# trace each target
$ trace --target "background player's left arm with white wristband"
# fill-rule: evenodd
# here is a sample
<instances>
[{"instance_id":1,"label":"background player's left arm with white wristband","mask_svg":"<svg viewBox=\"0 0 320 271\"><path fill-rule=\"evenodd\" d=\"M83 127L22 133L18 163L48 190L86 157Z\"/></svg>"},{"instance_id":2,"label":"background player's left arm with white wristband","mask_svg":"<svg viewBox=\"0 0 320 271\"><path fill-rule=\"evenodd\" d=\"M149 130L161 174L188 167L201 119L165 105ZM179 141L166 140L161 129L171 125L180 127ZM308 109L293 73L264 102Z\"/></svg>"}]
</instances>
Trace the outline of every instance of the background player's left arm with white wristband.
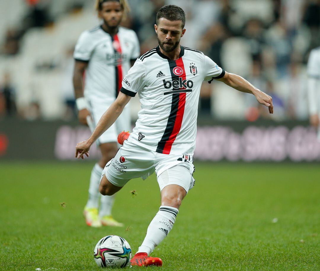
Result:
<instances>
[{"instance_id":1,"label":"background player's left arm with white wristband","mask_svg":"<svg viewBox=\"0 0 320 271\"><path fill-rule=\"evenodd\" d=\"M75 60L75 68L73 71L73 87L76 97L76 106L78 108L78 119L81 124L87 124L87 116L90 115L87 109L87 103L83 95L83 75L88 67L88 62Z\"/></svg>"}]
</instances>

